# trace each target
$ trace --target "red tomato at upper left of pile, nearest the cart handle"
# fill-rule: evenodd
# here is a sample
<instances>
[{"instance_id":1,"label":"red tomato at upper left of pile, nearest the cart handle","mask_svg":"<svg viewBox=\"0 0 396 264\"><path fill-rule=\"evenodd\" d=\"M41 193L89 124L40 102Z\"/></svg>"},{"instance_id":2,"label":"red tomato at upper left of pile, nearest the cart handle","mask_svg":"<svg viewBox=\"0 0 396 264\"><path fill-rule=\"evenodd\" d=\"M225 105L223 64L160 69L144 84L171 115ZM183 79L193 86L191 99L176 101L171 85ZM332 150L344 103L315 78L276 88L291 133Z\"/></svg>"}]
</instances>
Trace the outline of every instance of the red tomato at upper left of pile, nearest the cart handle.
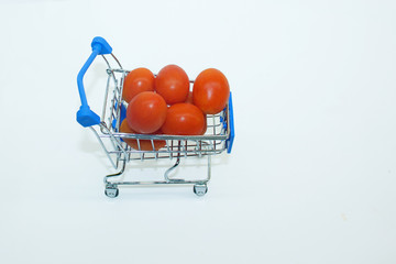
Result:
<instances>
[{"instance_id":1,"label":"red tomato at upper left of pile, nearest the cart handle","mask_svg":"<svg viewBox=\"0 0 396 264\"><path fill-rule=\"evenodd\" d=\"M122 99L130 102L133 97L142 91L154 91L154 75L150 69L133 69L124 79Z\"/></svg>"}]
</instances>

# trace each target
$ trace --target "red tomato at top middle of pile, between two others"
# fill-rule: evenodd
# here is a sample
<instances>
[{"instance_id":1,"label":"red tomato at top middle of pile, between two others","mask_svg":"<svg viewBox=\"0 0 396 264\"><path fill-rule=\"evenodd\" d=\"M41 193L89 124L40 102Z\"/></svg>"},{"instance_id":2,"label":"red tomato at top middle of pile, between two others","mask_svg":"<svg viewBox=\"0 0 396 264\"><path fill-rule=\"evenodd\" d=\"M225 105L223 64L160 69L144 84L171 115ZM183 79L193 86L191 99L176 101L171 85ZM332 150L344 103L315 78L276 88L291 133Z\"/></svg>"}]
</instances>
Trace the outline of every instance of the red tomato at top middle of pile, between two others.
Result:
<instances>
[{"instance_id":1,"label":"red tomato at top middle of pile, between two others","mask_svg":"<svg viewBox=\"0 0 396 264\"><path fill-rule=\"evenodd\" d=\"M167 65L155 78L155 90L167 105L184 102L189 91L188 76L179 66Z\"/></svg>"}]
</instances>

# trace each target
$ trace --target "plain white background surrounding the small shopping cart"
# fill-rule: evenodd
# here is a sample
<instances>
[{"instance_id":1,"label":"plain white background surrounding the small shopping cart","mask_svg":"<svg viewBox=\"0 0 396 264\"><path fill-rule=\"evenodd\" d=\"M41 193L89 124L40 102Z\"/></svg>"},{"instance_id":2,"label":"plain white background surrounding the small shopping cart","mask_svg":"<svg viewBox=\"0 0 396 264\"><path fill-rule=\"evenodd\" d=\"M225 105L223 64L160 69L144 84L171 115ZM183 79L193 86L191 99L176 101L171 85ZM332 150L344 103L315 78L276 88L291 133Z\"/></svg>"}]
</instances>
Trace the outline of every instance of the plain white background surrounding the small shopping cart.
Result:
<instances>
[{"instance_id":1,"label":"plain white background surrounding the small shopping cart","mask_svg":"<svg viewBox=\"0 0 396 264\"><path fill-rule=\"evenodd\" d=\"M395 263L395 13L369 0L1 1L1 262ZM96 35L125 68L227 75L237 136L205 197L103 195L112 167L75 121ZM97 112L103 81L97 59Z\"/></svg>"}]
</instances>

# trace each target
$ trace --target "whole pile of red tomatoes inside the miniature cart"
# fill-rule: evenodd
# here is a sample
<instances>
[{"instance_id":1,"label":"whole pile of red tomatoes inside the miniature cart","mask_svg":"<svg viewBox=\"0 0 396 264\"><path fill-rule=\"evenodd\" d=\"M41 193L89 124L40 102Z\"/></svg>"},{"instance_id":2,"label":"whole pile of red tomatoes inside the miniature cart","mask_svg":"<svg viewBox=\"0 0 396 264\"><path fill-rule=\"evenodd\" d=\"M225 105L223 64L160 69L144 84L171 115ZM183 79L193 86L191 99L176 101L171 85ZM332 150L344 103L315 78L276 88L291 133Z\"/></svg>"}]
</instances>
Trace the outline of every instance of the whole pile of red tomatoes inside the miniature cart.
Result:
<instances>
[{"instance_id":1,"label":"whole pile of red tomatoes inside the miniature cart","mask_svg":"<svg viewBox=\"0 0 396 264\"><path fill-rule=\"evenodd\" d=\"M128 102L122 133L202 135L207 114L221 112L227 106L230 87L218 69L208 68L195 79L193 90L183 68L167 65L154 76L147 68L130 72L123 84L122 99ZM124 140L131 147L152 151L150 140ZM154 148L165 146L154 141ZM140 146L140 147L139 147Z\"/></svg>"}]
</instances>

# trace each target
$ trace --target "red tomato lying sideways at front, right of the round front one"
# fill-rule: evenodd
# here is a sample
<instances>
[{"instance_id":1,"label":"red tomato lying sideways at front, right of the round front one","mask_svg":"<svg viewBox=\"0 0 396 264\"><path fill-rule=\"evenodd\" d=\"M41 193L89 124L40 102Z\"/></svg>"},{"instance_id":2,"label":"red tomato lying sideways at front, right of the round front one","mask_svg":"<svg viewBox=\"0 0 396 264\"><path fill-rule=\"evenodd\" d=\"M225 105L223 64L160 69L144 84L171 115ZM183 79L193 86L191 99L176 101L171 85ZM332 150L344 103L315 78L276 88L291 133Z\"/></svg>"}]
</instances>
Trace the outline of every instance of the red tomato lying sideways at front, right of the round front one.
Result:
<instances>
[{"instance_id":1,"label":"red tomato lying sideways at front, right of the round front one","mask_svg":"<svg viewBox=\"0 0 396 264\"><path fill-rule=\"evenodd\" d=\"M161 130L165 134L200 135L205 129L205 116L190 103L175 103L168 108L166 120Z\"/></svg>"}]
</instances>

